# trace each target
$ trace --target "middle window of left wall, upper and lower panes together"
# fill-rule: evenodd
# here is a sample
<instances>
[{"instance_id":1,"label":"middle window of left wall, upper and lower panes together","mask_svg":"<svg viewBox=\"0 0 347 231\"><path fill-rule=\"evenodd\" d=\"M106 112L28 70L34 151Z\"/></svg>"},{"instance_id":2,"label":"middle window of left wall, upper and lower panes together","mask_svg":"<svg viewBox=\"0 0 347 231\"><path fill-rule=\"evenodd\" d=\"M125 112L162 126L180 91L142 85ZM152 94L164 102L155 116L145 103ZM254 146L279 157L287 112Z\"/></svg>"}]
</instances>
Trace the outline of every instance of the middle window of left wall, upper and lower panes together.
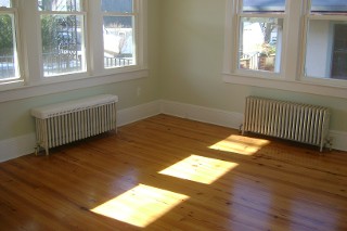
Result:
<instances>
[{"instance_id":1,"label":"middle window of left wall, upper and lower panes together","mask_svg":"<svg viewBox=\"0 0 347 231\"><path fill-rule=\"evenodd\" d=\"M81 7L78 0L38 1L43 77L86 72Z\"/></svg>"}]
</instances>

